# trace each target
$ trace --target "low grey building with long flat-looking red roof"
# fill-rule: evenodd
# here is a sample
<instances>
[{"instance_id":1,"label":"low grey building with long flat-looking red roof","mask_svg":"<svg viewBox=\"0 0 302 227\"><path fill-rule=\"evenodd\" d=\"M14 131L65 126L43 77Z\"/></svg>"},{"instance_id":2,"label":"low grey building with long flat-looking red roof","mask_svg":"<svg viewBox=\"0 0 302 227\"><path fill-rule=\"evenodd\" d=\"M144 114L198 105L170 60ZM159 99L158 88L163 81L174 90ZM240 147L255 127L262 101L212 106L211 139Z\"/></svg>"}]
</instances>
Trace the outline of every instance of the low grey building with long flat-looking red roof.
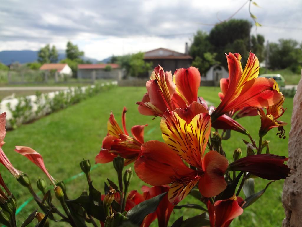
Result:
<instances>
[{"instance_id":1,"label":"low grey building with long flat-looking red roof","mask_svg":"<svg viewBox=\"0 0 302 227\"><path fill-rule=\"evenodd\" d=\"M78 64L79 79L114 79L120 80L123 70L119 64Z\"/></svg>"}]
</instances>

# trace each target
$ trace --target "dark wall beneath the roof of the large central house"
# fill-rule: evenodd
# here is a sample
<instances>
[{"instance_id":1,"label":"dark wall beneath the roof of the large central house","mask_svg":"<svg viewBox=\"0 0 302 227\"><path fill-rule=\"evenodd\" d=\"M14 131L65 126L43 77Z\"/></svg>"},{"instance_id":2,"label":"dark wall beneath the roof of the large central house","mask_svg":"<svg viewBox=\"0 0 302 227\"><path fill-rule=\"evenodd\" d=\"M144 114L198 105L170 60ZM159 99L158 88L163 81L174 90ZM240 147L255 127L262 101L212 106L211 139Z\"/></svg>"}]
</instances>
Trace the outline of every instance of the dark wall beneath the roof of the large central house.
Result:
<instances>
[{"instance_id":1,"label":"dark wall beneath the roof of the large central house","mask_svg":"<svg viewBox=\"0 0 302 227\"><path fill-rule=\"evenodd\" d=\"M152 62L153 68L160 65L165 71L172 71L172 74L176 69L188 68L191 66L191 59L145 59L145 62Z\"/></svg>"}]
</instances>

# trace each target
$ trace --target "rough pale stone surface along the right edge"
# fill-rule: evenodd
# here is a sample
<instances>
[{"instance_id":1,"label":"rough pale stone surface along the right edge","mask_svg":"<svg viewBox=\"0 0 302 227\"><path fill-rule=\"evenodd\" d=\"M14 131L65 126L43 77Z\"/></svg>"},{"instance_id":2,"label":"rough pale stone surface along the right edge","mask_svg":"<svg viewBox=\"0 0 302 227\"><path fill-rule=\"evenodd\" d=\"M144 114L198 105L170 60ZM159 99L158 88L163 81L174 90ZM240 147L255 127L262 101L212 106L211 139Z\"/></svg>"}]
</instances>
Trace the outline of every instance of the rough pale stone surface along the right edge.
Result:
<instances>
[{"instance_id":1,"label":"rough pale stone surface along the right edge","mask_svg":"<svg viewBox=\"0 0 302 227\"><path fill-rule=\"evenodd\" d=\"M283 227L302 226L302 70L291 116L288 140L288 166L291 177L285 179L282 202L285 209Z\"/></svg>"}]
</instances>

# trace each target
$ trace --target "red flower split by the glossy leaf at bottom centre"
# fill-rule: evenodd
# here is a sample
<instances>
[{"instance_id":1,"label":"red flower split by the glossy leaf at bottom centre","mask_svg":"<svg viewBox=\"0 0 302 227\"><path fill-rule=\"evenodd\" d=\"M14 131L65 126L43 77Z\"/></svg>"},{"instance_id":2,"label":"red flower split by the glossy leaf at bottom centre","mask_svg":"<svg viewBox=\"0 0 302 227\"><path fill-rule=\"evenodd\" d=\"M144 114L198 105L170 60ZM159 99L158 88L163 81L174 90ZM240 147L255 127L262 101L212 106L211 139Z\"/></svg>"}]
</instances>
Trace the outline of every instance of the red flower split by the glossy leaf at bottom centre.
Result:
<instances>
[{"instance_id":1,"label":"red flower split by the glossy leaf at bottom centre","mask_svg":"<svg viewBox=\"0 0 302 227\"><path fill-rule=\"evenodd\" d=\"M143 186L142 191L143 191L143 197L146 200L158 196L164 192L168 192L169 186L153 186L153 187ZM149 226L151 222L154 220L152 215L155 215L155 217L157 217L159 227L167 227L173 208L174 205L169 202L168 196L166 195L164 198L162 198L162 201L159 203L156 212L149 214L146 217L146 219L144 220L145 222L144 227Z\"/></svg>"}]
</instances>

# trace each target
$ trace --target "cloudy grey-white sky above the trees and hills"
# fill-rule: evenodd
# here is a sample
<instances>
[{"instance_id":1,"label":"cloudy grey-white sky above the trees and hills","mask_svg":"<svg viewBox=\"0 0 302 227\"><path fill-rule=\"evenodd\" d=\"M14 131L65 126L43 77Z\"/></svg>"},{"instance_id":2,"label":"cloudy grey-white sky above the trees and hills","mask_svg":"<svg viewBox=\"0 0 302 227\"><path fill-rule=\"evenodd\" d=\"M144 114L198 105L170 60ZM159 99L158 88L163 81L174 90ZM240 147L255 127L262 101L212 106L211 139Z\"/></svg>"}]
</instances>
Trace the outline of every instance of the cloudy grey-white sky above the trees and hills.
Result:
<instances>
[{"instance_id":1,"label":"cloudy grey-white sky above the trees and hills","mask_svg":"<svg viewBox=\"0 0 302 227\"><path fill-rule=\"evenodd\" d=\"M263 26L252 28L269 41L302 41L302 1L255 0L252 13ZM163 47L184 51L198 29L210 31L246 0L2 0L0 51L38 50L47 43L65 49L68 40L88 57ZM246 4L234 18L251 20ZM252 20L251 20L252 21ZM223 37L222 37L223 38Z\"/></svg>"}]
</instances>

